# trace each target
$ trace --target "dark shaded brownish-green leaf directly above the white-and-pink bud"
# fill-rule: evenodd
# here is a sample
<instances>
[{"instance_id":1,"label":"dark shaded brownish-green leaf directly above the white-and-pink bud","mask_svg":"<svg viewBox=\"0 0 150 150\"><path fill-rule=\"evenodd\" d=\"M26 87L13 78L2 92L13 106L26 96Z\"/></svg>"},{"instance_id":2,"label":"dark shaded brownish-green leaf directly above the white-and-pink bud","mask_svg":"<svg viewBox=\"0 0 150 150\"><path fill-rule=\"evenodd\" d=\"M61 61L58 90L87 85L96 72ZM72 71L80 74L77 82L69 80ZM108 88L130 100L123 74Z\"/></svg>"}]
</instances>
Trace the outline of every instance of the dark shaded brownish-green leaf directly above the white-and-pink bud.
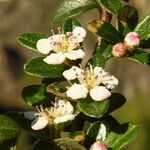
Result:
<instances>
[{"instance_id":1,"label":"dark shaded brownish-green leaf directly above the white-and-pink bud","mask_svg":"<svg viewBox=\"0 0 150 150\"><path fill-rule=\"evenodd\" d=\"M123 7L121 13L118 15L118 30L124 32L124 35L126 35L135 29L138 20L137 9L127 5Z\"/></svg>"}]
</instances>

